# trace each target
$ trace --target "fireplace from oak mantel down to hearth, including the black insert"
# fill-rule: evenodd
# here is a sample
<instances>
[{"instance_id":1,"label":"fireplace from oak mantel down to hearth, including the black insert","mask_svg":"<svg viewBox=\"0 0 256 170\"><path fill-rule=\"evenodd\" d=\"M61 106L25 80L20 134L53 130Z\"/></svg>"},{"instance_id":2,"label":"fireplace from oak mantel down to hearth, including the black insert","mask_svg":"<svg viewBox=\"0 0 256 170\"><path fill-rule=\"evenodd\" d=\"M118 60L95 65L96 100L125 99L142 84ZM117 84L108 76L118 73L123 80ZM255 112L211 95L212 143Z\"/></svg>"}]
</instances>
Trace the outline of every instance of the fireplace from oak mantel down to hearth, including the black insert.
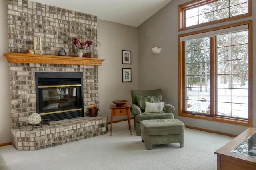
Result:
<instances>
[{"instance_id":1,"label":"fireplace from oak mantel down to hearth, including the black insert","mask_svg":"<svg viewBox=\"0 0 256 170\"><path fill-rule=\"evenodd\" d=\"M11 132L12 144L17 150L39 150L107 132L108 116L90 117L88 113L91 104L98 104L98 66L102 65L104 59L24 53L5 53L4 55L10 66ZM39 87L38 84L40 84ZM61 88L55 87L60 85L62 85ZM40 93L44 94L41 99L39 98L40 90ZM42 110L47 113L45 115L40 113L43 114L42 117L60 115L63 118L70 111L61 107L63 105L60 105L60 108L58 106L58 109L56 106L46 107L50 101L39 109L37 103L40 103L40 100L47 101L54 96L58 98L58 104L62 104L60 102L62 98L67 98L63 99L64 101L76 101L72 102L74 105L67 103L64 105L78 109L79 114L76 115L76 111L73 111L70 115L76 115L74 116L76 118L59 121L53 121L55 118L52 118L50 125L37 126L32 130L32 126L28 125L28 117L32 113L39 113L39 110Z\"/></svg>"}]
</instances>

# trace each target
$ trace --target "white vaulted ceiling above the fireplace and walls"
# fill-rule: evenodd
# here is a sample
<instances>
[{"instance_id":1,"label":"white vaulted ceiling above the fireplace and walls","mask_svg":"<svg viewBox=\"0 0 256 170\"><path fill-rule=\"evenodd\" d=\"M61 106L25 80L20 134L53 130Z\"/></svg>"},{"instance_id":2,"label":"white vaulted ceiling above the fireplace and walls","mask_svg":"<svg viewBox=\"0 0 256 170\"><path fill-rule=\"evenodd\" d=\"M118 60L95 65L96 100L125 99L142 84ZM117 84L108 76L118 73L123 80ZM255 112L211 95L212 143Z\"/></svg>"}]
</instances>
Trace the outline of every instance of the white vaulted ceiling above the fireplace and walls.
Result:
<instances>
[{"instance_id":1,"label":"white vaulted ceiling above the fireplace and walls","mask_svg":"<svg viewBox=\"0 0 256 170\"><path fill-rule=\"evenodd\" d=\"M172 0L32 0L138 27Z\"/></svg>"}]
</instances>

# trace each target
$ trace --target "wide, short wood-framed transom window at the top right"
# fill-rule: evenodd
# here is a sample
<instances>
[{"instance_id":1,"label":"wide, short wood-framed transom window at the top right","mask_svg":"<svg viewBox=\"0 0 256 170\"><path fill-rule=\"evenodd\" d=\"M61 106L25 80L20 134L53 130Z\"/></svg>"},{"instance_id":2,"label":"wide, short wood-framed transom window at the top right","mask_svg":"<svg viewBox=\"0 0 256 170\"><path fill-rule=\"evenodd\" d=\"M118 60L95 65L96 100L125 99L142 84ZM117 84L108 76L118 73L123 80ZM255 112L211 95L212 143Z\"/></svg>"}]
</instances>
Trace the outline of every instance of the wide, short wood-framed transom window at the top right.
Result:
<instances>
[{"instance_id":1,"label":"wide, short wood-framed transom window at the top right","mask_svg":"<svg viewBox=\"0 0 256 170\"><path fill-rule=\"evenodd\" d=\"M200 0L179 5L179 31L252 15L251 0ZM226 19L226 20L225 20Z\"/></svg>"}]
</instances>

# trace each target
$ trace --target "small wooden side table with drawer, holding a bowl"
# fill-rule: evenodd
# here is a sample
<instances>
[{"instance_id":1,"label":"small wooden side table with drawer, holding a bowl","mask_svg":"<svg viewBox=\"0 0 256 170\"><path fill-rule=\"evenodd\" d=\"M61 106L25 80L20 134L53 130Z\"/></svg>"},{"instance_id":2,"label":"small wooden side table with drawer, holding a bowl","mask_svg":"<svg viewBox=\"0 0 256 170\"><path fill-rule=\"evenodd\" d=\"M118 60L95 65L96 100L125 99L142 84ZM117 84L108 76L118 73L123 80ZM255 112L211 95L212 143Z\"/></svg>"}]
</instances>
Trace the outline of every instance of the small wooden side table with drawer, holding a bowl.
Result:
<instances>
[{"instance_id":1,"label":"small wooden side table with drawer, holding a bowl","mask_svg":"<svg viewBox=\"0 0 256 170\"><path fill-rule=\"evenodd\" d=\"M110 104L111 109L111 126L110 126L110 136L112 135L112 124L113 124L113 117L118 116L118 115L126 115L128 117L128 125L129 125L129 130L132 135L132 128L131 128L131 119L130 119L130 104L126 104L123 107L116 107L115 104Z\"/></svg>"}]
</instances>

